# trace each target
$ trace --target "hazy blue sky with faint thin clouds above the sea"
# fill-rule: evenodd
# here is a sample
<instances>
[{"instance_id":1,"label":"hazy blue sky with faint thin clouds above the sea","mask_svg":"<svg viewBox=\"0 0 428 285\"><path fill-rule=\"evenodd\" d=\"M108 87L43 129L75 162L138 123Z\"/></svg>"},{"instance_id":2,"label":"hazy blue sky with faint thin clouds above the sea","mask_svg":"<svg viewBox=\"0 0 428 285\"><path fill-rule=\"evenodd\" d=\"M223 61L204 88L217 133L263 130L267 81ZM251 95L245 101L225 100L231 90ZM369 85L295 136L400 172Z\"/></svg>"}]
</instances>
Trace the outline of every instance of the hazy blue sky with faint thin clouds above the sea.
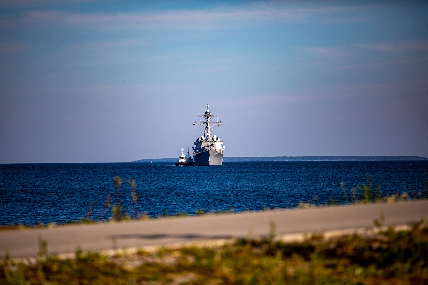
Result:
<instances>
[{"instance_id":1,"label":"hazy blue sky with faint thin clouds above the sea","mask_svg":"<svg viewBox=\"0 0 428 285\"><path fill-rule=\"evenodd\" d=\"M143 2L143 3L141 3ZM428 3L0 3L0 163L428 157Z\"/></svg>"}]
</instances>

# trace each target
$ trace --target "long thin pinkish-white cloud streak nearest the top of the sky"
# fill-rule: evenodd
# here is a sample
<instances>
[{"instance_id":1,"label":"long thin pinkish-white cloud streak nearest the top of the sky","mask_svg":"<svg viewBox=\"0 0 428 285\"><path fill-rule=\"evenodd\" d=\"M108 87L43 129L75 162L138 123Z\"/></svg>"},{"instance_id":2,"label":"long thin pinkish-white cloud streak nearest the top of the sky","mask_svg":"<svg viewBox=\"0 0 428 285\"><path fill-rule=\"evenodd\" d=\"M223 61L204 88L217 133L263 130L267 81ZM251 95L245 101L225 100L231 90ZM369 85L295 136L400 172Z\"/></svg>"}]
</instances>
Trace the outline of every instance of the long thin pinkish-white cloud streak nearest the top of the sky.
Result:
<instances>
[{"instance_id":1,"label":"long thin pinkish-white cloud streak nearest the top of the sky","mask_svg":"<svg viewBox=\"0 0 428 285\"><path fill-rule=\"evenodd\" d=\"M215 29L241 27L260 21L306 21L321 15L335 17L337 13L349 13L373 9L373 6L314 6L310 3L300 6L267 2L242 6L224 6L213 9L155 10L143 12L68 12L64 10L33 9L20 12L20 17L2 16L2 25L21 24L68 24L84 25L98 29L122 29L151 27L172 27L186 29ZM234 26L235 25L235 26Z\"/></svg>"}]
</instances>

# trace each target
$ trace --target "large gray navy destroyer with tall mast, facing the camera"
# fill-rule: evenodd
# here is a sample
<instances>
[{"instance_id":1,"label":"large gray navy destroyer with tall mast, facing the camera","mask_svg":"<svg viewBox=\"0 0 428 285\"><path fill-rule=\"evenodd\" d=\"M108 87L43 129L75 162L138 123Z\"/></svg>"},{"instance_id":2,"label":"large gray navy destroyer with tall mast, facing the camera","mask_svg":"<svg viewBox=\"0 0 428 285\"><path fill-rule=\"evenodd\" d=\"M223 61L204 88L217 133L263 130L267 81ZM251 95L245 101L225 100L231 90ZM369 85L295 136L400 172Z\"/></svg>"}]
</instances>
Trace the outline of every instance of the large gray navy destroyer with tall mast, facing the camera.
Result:
<instances>
[{"instance_id":1,"label":"large gray navy destroyer with tall mast, facing the camera","mask_svg":"<svg viewBox=\"0 0 428 285\"><path fill-rule=\"evenodd\" d=\"M196 116L204 118L205 121L193 123L193 125L199 124L204 127L204 135L198 137L194 143L195 146L192 147L195 165L221 165L223 163L223 142L217 136L211 136L211 128L214 125L220 125L221 121L211 122L211 118L218 116L218 114L211 114L208 107L207 104L205 114L196 114Z\"/></svg>"}]
</instances>

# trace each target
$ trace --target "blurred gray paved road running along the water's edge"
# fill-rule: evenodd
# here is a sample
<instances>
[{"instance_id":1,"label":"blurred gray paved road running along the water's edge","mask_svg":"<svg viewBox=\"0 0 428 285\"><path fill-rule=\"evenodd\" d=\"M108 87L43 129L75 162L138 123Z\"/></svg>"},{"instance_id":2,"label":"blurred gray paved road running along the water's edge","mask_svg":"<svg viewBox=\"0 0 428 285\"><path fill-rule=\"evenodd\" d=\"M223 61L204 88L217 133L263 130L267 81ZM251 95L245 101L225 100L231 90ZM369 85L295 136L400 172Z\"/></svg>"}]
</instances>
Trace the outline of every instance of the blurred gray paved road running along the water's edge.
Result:
<instances>
[{"instance_id":1,"label":"blurred gray paved road running along the water's edge","mask_svg":"<svg viewBox=\"0 0 428 285\"><path fill-rule=\"evenodd\" d=\"M249 233L260 237L268 234L271 222L277 235L372 227L381 213L386 226L428 220L428 200L0 231L0 255L4 257L8 251L12 258L36 256L39 236L48 242L49 252L62 254L74 252L77 246L98 251L245 237Z\"/></svg>"}]
</instances>

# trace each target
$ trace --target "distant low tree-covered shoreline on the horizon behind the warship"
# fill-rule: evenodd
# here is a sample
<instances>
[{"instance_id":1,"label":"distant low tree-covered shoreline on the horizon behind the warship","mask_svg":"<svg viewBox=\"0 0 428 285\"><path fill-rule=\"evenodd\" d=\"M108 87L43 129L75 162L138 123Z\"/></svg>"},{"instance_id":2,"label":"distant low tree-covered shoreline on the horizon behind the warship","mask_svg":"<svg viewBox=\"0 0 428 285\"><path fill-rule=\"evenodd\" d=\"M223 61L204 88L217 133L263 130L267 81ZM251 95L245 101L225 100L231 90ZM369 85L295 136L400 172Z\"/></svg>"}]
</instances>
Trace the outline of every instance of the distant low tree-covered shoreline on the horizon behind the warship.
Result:
<instances>
[{"instance_id":1,"label":"distant low tree-covered shoreline on the horizon behind the warship","mask_svg":"<svg viewBox=\"0 0 428 285\"><path fill-rule=\"evenodd\" d=\"M253 156L253 157L224 157L223 162L245 162L245 161L409 161L428 160L422 156ZM177 158L153 158L132 160L131 162L175 162Z\"/></svg>"}]
</instances>

